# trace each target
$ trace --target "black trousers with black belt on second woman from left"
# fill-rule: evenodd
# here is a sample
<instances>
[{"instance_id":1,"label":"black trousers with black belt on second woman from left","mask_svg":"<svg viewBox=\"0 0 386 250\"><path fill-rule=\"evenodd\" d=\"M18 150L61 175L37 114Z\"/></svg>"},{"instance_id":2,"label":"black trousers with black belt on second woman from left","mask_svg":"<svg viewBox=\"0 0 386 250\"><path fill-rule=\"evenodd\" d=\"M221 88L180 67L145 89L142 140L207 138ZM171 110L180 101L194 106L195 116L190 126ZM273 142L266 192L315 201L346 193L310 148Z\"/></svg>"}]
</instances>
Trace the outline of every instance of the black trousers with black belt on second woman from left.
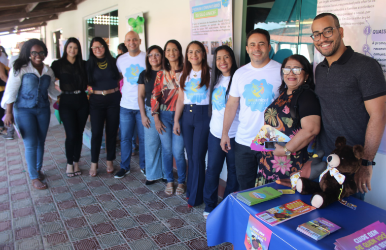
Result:
<instances>
[{"instance_id":1,"label":"black trousers with black belt on second woman from left","mask_svg":"<svg viewBox=\"0 0 386 250\"><path fill-rule=\"evenodd\" d=\"M65 130L65 155L67 164L79 162L82 151L83 131L89 114L89 104L85 92L62 94L59 115Z\"/></svg>"}]
</instances>

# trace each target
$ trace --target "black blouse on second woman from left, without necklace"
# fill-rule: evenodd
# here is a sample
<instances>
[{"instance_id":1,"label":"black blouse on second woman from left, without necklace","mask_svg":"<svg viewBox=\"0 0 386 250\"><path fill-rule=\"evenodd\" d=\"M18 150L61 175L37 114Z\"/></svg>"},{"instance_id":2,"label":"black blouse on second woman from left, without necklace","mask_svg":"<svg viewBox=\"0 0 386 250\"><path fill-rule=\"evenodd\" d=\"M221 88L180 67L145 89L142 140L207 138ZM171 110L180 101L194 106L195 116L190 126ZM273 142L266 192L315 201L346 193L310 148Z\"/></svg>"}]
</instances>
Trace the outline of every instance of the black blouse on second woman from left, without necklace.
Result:
<instances>
[{"instance_id":1,"label":"black blouse on second woman from left, without necklace","mask_svg":"<svg viewBox=\"0 0 386 250\"><path fill-rule=\"evenodd\" d=\"M54 71L55 77L59 79L60 90L87 89L86 61L82 60L82 64L79 66L77 61L72 64L67 58L60 58L52 62L51 69Z\"/></svg>"}]
</instances>

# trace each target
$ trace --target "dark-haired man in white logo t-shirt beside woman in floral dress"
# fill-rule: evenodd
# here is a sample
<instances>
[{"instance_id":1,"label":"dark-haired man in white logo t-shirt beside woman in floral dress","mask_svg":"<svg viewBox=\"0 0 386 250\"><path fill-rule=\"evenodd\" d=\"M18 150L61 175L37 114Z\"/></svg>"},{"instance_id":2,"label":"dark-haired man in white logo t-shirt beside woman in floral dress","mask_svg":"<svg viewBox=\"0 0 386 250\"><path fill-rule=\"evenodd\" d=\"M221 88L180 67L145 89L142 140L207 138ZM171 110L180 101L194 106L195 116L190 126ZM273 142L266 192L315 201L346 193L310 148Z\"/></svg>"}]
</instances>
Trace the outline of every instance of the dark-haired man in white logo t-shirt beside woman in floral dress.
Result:
<instances>
[{"instance_id":1,"label":"dark-haired man in white logo t-shirt beside woman in floral dress","mask_svg":"<svg viewBox=\"0 0 386 250\"><path fill-rule=\"evenodd\" d=\"M269 59L271 49L267 30L257 28L247 35L247 52L251 62L233 75L229 99L225 108L221 147L230 149L229 129L238 105L240 121L235 137L236 175L240 190L255 186L262 153L251 149L251 143L264 125L265 109L278 97L282 84L281 65Z\"/></svg>"}]
</instances>

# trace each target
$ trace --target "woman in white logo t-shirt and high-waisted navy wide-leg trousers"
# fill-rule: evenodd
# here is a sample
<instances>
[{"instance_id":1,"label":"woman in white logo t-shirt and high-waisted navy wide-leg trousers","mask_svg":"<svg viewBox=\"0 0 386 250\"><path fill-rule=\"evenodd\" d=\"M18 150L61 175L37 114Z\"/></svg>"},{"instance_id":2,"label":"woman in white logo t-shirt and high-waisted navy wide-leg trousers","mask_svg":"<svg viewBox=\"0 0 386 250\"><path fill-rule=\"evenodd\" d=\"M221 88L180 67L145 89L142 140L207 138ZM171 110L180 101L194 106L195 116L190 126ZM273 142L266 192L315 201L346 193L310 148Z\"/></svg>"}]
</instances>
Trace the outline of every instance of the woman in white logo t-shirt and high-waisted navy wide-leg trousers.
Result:
<instances>
[{"instance_id":1,"label":"woman in white logo t-shirt and high-waisted navy wide-leg trousers","mask_svg":"<svg viewBox=\"0 0 386 250\"><path fill-rule=\"evenodd\" d=\"M174 115L173 133L184 137L188 155L188 181L186 197L188 207L201 205L205 182L205 155L208 148L210 67L205 47L198 41L191 42L185 53L184 69ZM180 117L184 111L181 119Z\"/></svg>"}]
</instances>

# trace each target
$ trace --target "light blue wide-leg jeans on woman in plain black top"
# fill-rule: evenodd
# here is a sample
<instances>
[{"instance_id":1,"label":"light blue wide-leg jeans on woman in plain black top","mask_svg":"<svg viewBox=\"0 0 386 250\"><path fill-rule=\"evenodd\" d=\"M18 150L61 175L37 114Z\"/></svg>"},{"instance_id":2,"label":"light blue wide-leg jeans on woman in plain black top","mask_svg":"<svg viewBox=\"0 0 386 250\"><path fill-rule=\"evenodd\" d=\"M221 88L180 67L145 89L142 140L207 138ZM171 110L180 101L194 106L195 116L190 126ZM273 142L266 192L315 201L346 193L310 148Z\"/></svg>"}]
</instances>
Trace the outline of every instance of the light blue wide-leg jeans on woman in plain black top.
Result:
<instances>
[{"instance_id":1,"label":"light blue wide-leg jeans on woman in plain black top","mask_svg":"<svg viewBox=\"0 0 386 250\"><path fill-rule=\"evenodd\" d=\"M161 140L156 130L152 108L145 106L146 115L150 119L150 128L144 128L145 132L145 163L146 179L158 180L164 177L161 157ZM141 151L139 151L141 152Z\"/></svg>"}]
</instances>

